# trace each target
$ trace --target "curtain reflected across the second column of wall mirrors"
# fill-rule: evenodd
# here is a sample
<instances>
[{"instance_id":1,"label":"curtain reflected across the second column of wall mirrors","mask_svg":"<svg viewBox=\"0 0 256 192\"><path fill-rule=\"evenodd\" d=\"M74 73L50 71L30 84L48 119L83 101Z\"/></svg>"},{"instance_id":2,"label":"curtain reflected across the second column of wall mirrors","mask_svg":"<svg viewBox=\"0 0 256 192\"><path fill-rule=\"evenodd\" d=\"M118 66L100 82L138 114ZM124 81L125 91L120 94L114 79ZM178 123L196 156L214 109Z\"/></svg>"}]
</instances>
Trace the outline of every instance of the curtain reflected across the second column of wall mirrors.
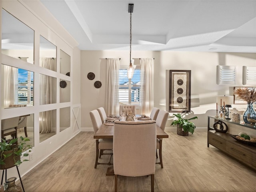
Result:
<instances>
[{"instance_id":1,"label":"curtain reflected across the second column of wall mirrors","mask_svg":"<svg viewBox=\"0 0 256 192\"><path fill-rule=\"evenodd\" d=\"M52 58L40 58L40 66L53 69ZM52 89L53 89L52 78L47 75L40 74L40 104L51 104L52 103ZM40 133L52 132L52 111L40 112Z\"/></svg>"}]
</instances>

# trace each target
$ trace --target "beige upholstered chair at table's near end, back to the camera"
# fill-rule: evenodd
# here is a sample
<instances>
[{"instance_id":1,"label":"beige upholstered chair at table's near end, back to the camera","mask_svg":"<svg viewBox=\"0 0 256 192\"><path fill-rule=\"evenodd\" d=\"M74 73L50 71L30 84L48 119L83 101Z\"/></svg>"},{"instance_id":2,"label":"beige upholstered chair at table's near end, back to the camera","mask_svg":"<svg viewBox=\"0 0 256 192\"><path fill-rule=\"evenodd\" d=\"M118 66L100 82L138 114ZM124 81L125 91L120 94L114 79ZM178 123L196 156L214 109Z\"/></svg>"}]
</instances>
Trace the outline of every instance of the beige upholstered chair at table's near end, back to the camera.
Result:
<instances>
[{"instance_id":1,"label":"beige upholstered chair at table's near end, back to the camera","mask_svg":"<svg viewBox=\"0 0 256 192\"><path fill-rule=\"evenodd\" d=\"M154 191L156 164L156 121L115 121L113 137L115 192L118 175L151 175Z\"/></svg>"}]
</instances>

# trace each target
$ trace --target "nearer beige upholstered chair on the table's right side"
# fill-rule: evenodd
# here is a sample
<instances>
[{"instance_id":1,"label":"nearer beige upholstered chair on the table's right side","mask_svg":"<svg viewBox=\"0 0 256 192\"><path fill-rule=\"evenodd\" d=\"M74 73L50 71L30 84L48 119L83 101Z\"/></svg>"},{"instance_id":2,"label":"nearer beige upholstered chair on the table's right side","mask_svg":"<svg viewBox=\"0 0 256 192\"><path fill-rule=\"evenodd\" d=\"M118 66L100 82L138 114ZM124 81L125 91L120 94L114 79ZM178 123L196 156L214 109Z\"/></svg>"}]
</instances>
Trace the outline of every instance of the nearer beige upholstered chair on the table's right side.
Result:
<instances>
[{"instance_id":1,"label":"nearer beige upholstered chair on the table's right side","mask_svg":"<svg viewBox=\"0 0 256 192\"><path fill-rule=\"evenodd\" d=\"M169 116L169 113L165 110L160 110L158 113L158 116L156 118L156 125L160 127L162 130L165 129L168 116ZM161 168L164 167L163 161L162 161L162 140L163 140L162 138L156 139L156 148L159 149L159 160L160 160L160 162L157 162L156 164L160 164ZM156 157L158 157L157 151L156 151Z\"/></svg>"}]
</instances>

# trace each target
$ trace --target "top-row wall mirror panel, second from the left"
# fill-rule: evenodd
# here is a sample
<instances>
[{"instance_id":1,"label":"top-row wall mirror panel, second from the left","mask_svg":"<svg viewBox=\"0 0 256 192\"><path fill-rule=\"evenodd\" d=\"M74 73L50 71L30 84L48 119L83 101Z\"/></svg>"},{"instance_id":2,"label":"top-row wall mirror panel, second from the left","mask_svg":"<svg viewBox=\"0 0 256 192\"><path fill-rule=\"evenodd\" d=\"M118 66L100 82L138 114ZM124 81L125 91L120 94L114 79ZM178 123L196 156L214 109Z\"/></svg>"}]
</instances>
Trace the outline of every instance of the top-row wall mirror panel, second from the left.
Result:
<instances>
[{"instance_id":1,"label":"top-row wall mirror panel, second from the left","mask_svg":"<svg viewBox=\"0 0 256 192\"><path fill-rule=\"evenodd\" d=\"M40 61L39 66L57 71L56 46L46 38L40 36Z\"/></svg>"}]
</instances>

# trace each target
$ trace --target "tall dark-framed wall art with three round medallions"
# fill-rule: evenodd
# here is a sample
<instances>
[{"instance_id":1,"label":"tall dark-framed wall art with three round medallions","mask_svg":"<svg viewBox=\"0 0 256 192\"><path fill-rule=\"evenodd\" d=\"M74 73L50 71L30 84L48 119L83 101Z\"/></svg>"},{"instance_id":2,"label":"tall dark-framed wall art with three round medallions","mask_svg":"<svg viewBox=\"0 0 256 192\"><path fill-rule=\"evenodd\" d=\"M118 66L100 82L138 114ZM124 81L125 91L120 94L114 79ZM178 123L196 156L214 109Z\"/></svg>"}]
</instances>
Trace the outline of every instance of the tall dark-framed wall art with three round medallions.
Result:
<instances>
[{"instance_id":1,"label":"tall dark-framed wall art with three round medallions","mask_svg":"<svg viewBox=\"0 0 256 192\"><path fill-rule=\"evenodd\" d=\"M169 112L190 112L191 70L170 70Z\"/></svg>"}]
</instances>

